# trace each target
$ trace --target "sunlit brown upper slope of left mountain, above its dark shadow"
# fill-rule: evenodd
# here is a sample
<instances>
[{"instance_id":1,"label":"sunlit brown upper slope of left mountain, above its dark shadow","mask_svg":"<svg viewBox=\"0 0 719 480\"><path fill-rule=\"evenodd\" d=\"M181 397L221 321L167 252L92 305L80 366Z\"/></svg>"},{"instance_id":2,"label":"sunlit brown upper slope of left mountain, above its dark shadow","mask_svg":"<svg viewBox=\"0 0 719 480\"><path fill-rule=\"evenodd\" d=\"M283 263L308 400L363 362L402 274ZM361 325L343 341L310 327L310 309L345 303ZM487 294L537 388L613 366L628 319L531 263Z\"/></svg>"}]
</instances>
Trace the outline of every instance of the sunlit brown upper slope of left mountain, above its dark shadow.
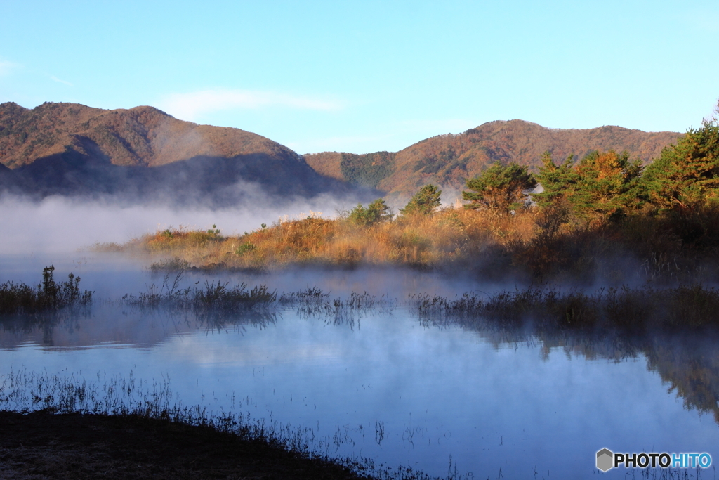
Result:
<instances>
[{"instance_id":1,"label":"sunlit brown upper slope of left mountain, above its dark shadow","mask_svg":"<svg viewBox=\"0 0 719 480\"><path fill-rule=\"evenodd\" d=\"M297 155L277 142L245 130L175 119L155 107L96 109L51 103L26 109L0 104L0 163L10 168L78 148L88 139L114 165L160 166L198 155L229 158L257 152ZM173 140L173 141L170 141Z\"/></svg>"}]
</instances>

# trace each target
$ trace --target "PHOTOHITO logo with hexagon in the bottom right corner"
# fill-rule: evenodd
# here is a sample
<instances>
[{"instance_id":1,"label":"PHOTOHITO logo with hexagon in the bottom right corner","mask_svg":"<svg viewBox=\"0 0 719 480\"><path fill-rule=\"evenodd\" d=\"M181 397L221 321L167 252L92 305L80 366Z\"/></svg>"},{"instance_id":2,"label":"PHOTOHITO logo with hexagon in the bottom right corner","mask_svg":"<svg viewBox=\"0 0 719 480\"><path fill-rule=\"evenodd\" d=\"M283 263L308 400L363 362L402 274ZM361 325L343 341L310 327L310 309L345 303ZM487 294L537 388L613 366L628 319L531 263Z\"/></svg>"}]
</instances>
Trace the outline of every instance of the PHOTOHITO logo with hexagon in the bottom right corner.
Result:
<instances>
[{"instance_id":1,"label":"PHOTOHITO logo with hexagon in the bottom right corner","mask_svg":"<svg viewBox=\"0 0 719 480\"><path fill-rule=\"evenodd\" d=\"M708 468L712 456L708 453L613 453L608 448L597 452L597 468L608 471L624 464L624 468Z\"/></svg>"}]
</instances>

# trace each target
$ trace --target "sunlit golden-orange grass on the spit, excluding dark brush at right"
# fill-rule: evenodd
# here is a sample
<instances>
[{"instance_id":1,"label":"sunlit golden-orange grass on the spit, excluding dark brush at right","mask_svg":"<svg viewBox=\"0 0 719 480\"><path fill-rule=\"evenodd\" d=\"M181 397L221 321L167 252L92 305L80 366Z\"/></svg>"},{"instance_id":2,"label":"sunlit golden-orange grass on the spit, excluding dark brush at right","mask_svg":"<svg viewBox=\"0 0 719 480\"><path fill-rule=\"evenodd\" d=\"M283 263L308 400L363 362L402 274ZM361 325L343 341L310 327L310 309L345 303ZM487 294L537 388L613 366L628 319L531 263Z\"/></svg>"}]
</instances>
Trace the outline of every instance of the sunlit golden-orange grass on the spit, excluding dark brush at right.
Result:
<instances>
[{"instance_id":1,"label":"sunlit golden-orange grass on the spit, excluding dark brush at right","mask_svg":"<svg viewBox=\"0 0 719 480\"><path fill-rule=\"evenodd\" d=\"M488 250L531 242L533 213L489 218L464 209L400 217L369 227L349 219L278 221L245 235L179 229L158 230L122 245L122 250L177 257L192 266L280 268L292 264L357 266L392 264L431 268L461 263ZM106 250L96 245L97 250ZM112 245L117 250L117 245Z\"/></svg>"}]
</instances>

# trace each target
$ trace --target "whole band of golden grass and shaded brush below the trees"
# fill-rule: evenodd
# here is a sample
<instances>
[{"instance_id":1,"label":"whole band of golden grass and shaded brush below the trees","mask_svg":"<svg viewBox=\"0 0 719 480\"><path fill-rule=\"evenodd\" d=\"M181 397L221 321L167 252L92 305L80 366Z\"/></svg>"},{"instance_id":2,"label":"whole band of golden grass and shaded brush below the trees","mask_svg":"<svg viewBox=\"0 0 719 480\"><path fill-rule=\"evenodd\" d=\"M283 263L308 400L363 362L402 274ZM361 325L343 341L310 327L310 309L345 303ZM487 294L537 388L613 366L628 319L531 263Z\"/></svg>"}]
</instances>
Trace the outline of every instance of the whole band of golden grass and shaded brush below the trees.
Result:
<instances>
[{"instance_id":1,"label":"whole band of golden grass and shaded brush below the trees","mask_svg":"<svg viewBox=\"0 0 719 480\"><path fill-rule=\"evenodd\" d=\"M688 278L719 253L719 211L695 218L641 212L620 223L593 225L571 217L551 222L547 209L511 215L446 208L369 227L348 218L278 221L245 235L168 229L122 245L125 252L173 261L155 268L274 270L287 266L411 266L472 270L489 276L590 279L594 271L649 278ZM548 216L550 217L548 219ZM553 226L554 225L554 226ZM118 250L117 245L97 250ZM623 257L618 260L618 257ZM616 264L618 263L618 264ZM616 264L616 265L615 265Z\"/></svg>"}]
</instances>

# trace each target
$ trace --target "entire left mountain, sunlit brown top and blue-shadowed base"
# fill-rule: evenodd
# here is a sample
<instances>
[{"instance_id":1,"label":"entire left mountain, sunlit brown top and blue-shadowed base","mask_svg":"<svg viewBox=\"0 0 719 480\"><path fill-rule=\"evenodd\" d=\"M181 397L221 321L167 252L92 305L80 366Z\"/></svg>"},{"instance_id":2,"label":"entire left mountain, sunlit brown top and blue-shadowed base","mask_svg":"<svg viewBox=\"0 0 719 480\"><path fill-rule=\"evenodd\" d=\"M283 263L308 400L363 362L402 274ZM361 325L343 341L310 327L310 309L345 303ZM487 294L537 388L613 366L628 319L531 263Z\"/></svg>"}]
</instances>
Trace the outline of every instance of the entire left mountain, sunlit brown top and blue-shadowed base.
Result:
<instances>
[{"instance_id":1,"label":"entire left mountain, sunlit brown top and blue-shadowed base","mask_svg":"<svg viewBox=\"0 0 719 480\"><path fill-rule=\"evenodd\" d=\"M0 188L39 196L210 199L219 206L247 196L246 182L283 197L368 194L321 176L265 137L183 122L153 107L0 104L0 163L12 169L0 169Z\"/></svg>"}]
</instances>

